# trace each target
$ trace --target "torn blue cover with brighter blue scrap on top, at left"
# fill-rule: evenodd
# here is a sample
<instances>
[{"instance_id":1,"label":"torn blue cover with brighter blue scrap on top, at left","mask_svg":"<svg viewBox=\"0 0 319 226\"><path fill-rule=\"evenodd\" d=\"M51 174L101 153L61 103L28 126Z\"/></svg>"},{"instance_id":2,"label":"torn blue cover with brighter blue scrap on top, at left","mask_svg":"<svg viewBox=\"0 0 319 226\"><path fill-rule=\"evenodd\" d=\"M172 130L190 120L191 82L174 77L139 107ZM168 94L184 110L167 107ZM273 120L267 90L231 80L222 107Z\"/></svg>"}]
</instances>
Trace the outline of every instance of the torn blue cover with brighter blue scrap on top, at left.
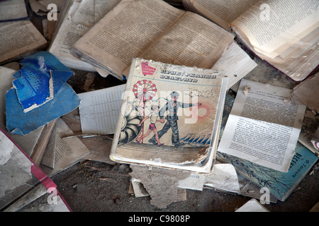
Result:
<instances>
[{"instance_id":1,"label":"torn blue cover with brighter blue scrap on top, at left","mask_svg":"<svg viewBox=\"0 0 319 226\"><path fill-rule=\"evenodd\" d=\"M13 88L6 93L8 131L26 135L79 106L79 97L66 83L73 72L52 54L38 52L21 64L21 70L13 75ZM50 78L45 78L48 75Z\"/></svg>"}]
</instances>

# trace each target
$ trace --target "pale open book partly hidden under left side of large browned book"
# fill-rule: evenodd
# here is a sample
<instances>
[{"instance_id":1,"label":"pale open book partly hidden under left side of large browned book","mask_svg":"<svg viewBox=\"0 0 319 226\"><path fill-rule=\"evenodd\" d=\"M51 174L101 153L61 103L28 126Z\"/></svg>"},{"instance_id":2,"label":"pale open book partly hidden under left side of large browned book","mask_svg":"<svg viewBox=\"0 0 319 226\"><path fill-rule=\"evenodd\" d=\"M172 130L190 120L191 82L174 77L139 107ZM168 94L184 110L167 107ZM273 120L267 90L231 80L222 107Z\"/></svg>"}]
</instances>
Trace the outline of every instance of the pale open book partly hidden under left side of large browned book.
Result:
<instances>
[{"instance_id":1,"label":"pale open book partly hidden under left side of large browned book","mask_svg":"<svg viewBox=\"0 0 319 226\"><path fill-rule=\"evenodd\" d=\"M91 64L74 57L71 54L71 49L82 35L118 4L118 1L66 1L48 51L71 69L96 71Z\"/></svg>"}]
</instances>

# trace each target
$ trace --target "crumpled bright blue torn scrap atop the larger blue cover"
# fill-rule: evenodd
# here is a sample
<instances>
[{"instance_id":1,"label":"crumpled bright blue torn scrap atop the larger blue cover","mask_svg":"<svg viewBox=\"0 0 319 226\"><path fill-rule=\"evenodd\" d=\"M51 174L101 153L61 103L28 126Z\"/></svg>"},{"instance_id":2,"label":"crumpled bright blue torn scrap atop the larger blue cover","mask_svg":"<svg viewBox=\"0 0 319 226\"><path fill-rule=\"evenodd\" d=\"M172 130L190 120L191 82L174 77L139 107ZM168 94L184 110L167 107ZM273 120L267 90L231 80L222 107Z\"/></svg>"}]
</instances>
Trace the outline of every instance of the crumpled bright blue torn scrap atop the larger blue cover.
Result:
<instances>
[{"instance_id":1,"label":"crumpled bright blue torn scrap atop the larger blue cover","mask_svg":"<svg viewBox=\"0 0 319 226\"><path fill-rule=\"evenodd\" d=\"M53 99L73 71L50 52L38 52L21 61L21 70L13 75L13 88L24 112Z\"/></svg>"}]
</instances>

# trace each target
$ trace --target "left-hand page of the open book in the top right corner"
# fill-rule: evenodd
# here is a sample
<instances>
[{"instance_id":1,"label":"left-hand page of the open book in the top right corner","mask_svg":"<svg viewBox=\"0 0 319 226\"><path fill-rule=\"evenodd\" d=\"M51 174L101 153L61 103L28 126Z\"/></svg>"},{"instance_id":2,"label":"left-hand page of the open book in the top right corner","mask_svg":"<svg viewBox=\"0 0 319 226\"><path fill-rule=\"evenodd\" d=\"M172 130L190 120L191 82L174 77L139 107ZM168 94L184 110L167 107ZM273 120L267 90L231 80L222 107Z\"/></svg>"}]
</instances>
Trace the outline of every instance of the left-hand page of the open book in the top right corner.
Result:
<instances>
[{"instance_id":1,"label":"left-hand page of the open book in the top right corner","mask_svg":"<svg viewBox=\"0 0 319 226\"><path fill-rule=\"evenodd\" d=\"M209 20L230 30L229 24L258 0L183 0L185 8L196 11Z\"/></svg>"}]
</instances>

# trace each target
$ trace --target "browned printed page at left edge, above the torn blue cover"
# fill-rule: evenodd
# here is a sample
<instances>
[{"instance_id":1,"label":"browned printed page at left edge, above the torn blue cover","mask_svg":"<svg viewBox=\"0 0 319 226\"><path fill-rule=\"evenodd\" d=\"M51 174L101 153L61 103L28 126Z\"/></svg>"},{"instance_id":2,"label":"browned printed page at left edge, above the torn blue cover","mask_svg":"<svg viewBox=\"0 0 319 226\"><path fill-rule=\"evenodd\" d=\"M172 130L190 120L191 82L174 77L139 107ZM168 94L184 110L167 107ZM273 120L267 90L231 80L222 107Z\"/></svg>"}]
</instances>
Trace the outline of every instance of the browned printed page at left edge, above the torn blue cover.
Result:
<instances>
[{"instance_id":1,"label":"browned printed page at left edge, above the torn blue cover","mask_svg":"<svg viewBox=\"0 0 319 226\"><path fill-rule=\"evenodd\" d=\"M26 54L47 44L29 20L0 23L0 62Z\"/></svg>"}]
</instances>

